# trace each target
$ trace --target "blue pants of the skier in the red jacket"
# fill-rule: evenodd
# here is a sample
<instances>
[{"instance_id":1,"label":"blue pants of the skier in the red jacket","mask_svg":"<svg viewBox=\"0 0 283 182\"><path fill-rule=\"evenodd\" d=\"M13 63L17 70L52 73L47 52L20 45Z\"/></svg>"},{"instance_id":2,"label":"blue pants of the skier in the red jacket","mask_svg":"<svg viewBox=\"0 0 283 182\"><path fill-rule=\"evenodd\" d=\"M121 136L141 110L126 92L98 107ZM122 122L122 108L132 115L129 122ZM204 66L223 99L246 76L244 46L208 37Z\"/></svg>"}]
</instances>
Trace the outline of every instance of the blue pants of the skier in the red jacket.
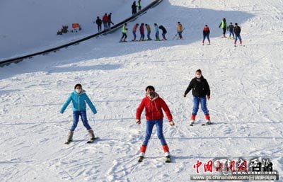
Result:
<instances>
[{"instance_id":1,"label":"blue pants of the skier in the red jacket","mask_svg":"<svg viewBox=\"0 0 283 182\"><path fill-rule=\"evenodd\" d=\"M161 120L147 120L146 121L146 137L144 138L144 145L147 145L149 142L149 139L151 137L152 129L154 128L154 125L156 125L156 131L157 136L159 140L161 141L162 145L166 144L166 140L163 136L163 119Z\"/></svg>"}]
</instances>

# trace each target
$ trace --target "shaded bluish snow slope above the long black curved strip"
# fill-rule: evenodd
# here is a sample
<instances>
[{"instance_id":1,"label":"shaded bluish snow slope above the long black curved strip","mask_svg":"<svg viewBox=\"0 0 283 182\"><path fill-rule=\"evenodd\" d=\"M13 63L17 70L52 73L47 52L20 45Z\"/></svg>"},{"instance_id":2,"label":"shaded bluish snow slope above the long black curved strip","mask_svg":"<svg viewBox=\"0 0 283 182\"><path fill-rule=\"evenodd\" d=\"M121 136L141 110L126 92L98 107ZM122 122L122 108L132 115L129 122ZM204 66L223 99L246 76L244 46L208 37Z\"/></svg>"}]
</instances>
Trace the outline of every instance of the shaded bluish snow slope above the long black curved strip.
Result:
<instances>
[{"instance_id":1,"label":"shaded bluish snow slope above the long black curved strip","mask_svg":"<svg viewBox=\"0 0 283 182\"><path fill-rule=\"evenodd\" d=\"M151 0L144 0L146 6ZM63 45L97 33L96 17L112 12L112 22L132 16L129 0L35 1L2 0L0 2L0 59L34 53ZM80 23L78 33L57 35L62 25Z\"/></svg>"}]
</instances>

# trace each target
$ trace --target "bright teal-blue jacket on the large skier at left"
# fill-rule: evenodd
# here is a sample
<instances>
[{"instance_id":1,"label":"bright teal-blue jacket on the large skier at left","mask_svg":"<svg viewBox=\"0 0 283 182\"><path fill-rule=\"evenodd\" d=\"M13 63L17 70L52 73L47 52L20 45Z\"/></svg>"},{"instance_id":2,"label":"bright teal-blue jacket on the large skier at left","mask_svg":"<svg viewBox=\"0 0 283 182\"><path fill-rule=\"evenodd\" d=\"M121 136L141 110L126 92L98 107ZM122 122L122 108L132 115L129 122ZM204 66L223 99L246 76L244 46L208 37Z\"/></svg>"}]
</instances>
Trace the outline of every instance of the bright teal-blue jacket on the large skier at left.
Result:
<instances>
[{"instance_id":1,"label":"bright teal-blue jacket on the large skier at left","mask_svg":"<svg viewBox=\"0 0 283 182\"><path fill-rule=\"evenodd\" d=\"M93 114L96 114L96 107L93 106L93 103L91 103L91 100L86 95L86 91L81 91L81 93L76 93L76 91L73 91L67 101L62 106L60 113L64 113L64 110L68 107L69 103L73 103L73 111L84 111L86 110L86 103L88 103L88 106L91 108L91 111L93 111Z\"/></svg>"}]
</instances>

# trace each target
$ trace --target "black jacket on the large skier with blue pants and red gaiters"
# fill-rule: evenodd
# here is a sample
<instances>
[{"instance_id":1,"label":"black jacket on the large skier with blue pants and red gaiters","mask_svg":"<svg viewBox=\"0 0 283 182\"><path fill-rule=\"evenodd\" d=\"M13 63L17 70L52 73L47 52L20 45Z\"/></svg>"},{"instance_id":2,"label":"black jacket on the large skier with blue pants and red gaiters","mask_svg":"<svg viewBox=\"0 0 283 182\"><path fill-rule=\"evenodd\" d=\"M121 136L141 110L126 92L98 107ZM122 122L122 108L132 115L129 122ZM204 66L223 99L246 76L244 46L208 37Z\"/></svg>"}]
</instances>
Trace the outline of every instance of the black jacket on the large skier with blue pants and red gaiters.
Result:
<instances>
[{"instance_id":1,"label":"black jacket on the large skier with blue pants and red gaiters","mask_svg":"<svg viewBox=\"0 0 283 182\"><path fill-rule=\"evenodd\" d=\"M192 79L192 81L190 81L190 85L187 86L185 95L187 95L187 93L189 93L191 89L192 89L192 96L197 96L197 97L210 96L209 84L207 83L207 80L204 79L203 76L200 78L200 81L197 81L197 78L194 78Z\"/></svg>"}]
</instances>

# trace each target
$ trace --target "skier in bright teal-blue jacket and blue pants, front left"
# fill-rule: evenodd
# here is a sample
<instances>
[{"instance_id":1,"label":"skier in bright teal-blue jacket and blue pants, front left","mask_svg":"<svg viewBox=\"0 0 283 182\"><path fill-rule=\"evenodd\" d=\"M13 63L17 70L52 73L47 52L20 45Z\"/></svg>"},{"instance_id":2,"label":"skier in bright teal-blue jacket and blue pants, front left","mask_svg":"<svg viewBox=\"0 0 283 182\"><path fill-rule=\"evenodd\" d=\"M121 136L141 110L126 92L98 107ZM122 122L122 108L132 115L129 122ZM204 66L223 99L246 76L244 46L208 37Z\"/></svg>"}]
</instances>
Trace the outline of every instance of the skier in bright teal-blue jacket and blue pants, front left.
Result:
<instances>
[{"instance_id":1,"label":"skier in bright teal-blue jacket and blue pants, front left","mask_svg":"<svg viewBox=\"0 0 283 182\"><path fill-rule=\"evenodd\" d=\"M83 90L81 84L75 85L74 91L70 94L69 98L62 106L60 113L64 113L64 110L66 110L70 102L73 103L73 125L71 125L71 129L69 130L68 140L66 143L69 144L69 142L73 140L74 130L79 123L79 116L81 116L83 126L88 130L91 140L94 140L95 137L93 130L91 129L91 126L88 125L88 119L86 118L86 103L88 103L93 114L96 114L97 111L96 107L93 106L93 103L91 103L91 100L86 95L86 91Z\"/></svg>"}]
</instances>

